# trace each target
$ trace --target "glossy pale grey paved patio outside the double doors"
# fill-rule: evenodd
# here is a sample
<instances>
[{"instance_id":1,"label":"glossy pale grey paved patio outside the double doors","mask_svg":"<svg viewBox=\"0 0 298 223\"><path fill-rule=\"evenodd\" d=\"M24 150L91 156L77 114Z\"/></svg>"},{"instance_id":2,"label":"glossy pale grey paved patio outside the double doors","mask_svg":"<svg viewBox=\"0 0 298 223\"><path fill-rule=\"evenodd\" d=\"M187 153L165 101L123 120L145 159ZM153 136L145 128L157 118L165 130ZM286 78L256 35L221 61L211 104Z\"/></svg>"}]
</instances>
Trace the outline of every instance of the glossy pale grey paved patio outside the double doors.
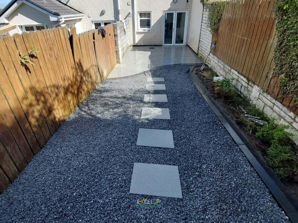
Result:
<instances>
[{"instance_id":1,"label":"glossy pale grey paved patio outside the double doors","mask_svg":"<svg viewBox=\"0 0 298 223\"><path fill-rule=\"evenodd\" d=\"M188 46L134 46L126 51L123 62L115 66L108 78L131 76L162 65L184 63L202 61Z\"/></svg>"}]
</instances>

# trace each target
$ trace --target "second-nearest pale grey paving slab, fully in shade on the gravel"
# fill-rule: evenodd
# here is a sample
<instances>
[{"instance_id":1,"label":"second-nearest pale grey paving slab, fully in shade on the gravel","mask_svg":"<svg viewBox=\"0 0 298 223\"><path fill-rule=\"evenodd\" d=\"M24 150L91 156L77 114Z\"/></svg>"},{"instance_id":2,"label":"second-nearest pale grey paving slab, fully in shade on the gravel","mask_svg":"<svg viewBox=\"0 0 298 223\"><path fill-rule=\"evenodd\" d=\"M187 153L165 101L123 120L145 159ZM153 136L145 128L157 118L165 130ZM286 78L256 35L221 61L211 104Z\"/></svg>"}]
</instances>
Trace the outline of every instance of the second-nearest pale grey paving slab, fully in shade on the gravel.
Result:
<instances>
[{"instance_id":1,"label":"second-nearest pale grey paving slab, fully in shade on the gravel","mask_svg":"<svg viewBox=\"0 0 298 223\"><path fill-rule=\"evenodd\" d=\"M171 130L139 128L136 145L174 148L173 132Z\"/></svg>"}]
</instances>

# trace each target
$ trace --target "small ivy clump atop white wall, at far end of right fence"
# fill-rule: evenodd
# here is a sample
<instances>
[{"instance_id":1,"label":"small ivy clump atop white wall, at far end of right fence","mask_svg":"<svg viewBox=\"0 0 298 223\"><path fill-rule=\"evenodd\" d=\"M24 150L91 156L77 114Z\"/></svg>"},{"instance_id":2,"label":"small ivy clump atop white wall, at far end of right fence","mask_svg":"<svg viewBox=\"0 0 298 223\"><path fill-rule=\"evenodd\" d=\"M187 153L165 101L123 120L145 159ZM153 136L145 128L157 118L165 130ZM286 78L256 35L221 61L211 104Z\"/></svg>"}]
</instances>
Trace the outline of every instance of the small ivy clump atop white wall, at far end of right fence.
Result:
<instances>
[{"instance_id":1,"label":"small ivy clump atop white wall, at far end of right fence","mask_svg":"<svg viewBox=\"0 0 298 223\"><path fill-rule=\"evenodd\" d=\"M218 30L225 3L225 1L212 1L209 3L208 26L212 34L215 34Z\"/></svg>"}]
</instances>

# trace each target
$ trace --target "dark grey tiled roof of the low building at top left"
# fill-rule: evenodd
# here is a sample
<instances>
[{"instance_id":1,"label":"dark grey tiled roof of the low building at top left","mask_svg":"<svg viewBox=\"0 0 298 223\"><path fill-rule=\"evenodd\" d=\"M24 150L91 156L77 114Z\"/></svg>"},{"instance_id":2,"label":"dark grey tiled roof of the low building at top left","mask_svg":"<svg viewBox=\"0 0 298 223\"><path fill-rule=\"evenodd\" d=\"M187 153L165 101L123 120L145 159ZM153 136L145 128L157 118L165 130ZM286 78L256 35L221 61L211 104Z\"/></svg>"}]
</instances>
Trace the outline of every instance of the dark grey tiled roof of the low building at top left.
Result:
<instances>
[{"instance_id":1,"label":"dark grey tiled roof of the low building at top left","mask_svg":"<svg viewBox=\"0 0 298 223\"><path fill-rule=\"evenodd\" d=\"M6 10L10 8L17 0L12 0L1 12L0 16L4 14ZM64 4L61 1L58 0L25 0L28 1L35 6L46 10L47 12L58 15L58 16L65 16L65 15L80 15L83 14L82 12L68 6L67 4Z\"/></svg>"}]
</instances>

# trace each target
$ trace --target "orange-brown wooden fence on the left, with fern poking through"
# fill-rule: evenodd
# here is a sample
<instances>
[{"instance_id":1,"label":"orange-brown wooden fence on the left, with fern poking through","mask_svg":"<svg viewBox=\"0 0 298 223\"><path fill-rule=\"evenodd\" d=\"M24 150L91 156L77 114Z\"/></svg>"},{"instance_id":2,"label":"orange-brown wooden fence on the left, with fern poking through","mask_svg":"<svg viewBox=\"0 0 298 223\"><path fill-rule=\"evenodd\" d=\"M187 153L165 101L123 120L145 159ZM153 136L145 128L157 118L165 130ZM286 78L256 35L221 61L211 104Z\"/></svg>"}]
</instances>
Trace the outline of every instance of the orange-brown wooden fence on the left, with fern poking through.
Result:
<instances>
[{"instance_id":1,"label":"orange-brown wooden fence on the left, with fern poking through","mask_svg":"<svg viewBox=\"0 0 298 223\"><path fill-rule=\"evenodd\" d=\"M104 28L105 38L69 38L66 27L0 38L1 192L116 65L113 26ZM34 64L22 64L32 49Z\"/></svg>"}]
</instances>

